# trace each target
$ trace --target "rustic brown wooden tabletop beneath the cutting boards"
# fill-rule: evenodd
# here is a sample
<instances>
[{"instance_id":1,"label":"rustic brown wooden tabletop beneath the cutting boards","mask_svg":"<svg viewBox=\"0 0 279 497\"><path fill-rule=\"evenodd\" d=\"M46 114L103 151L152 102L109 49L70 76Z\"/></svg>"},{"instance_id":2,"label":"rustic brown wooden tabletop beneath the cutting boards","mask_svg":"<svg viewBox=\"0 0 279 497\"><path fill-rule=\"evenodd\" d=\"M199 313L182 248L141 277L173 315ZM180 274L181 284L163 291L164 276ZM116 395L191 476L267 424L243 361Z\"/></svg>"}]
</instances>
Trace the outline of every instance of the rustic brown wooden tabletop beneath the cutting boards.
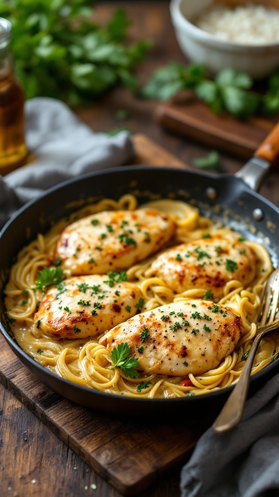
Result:
<instances>
[{"instance_id":1,"label":"rustic brown wooden tabletop beneath the cutting boards","mask_svg":"<svg viewBox=\"0 0 279 497\"><path fill-rule=\"evenodd\" d=\"M145 83L152 71L170 61L185 62L171 25L169 1L105 1L97 2L96 16L105 21L117 6L124 6L132 21L133 39L151 38L153 48L139 68ZM97 104L75 109L78 116L95 131L127 127L133 133L144 133L157 144L188 165L195 157L205 156L209 148L161 128L153 118L155 101L143 101L127 90L117 89ZM116 111L125 109L123 122ZM242 160L221 154L226 172L235 172ZM279 175L273 172L261 190L279 203ZM0 495L1 497L120 497L69 447L36 416L26 409L8 390L0 385ZM78 421L77 421L78 422ZM180 468L144 491L139 497L178 497Z\"/></svg>"}]
</instances>

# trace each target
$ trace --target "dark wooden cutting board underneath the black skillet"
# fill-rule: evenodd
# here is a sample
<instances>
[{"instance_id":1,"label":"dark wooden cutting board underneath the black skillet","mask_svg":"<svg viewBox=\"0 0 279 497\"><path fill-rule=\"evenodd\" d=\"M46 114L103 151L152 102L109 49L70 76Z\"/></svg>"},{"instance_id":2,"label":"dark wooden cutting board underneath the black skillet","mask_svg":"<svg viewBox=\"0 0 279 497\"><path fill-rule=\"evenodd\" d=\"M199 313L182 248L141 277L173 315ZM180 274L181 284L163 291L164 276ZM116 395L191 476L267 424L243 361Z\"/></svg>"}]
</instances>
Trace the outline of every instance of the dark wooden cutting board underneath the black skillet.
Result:
<instances>
[{"instance_id":1,"label":"dark wooden cutting board underneath the black skillet","mask_svg":"<svg viewBox=\"0 0 279 497\"><path fill-rule=\"evenodd\" d=\"M135 164L187 167L143 135L136 135L134 142ZM133 420L82 408L40 383L1 334L0 350L0 382L124 496L138 494L186 462L211 422L205 416L202 423Z\"/></svg>"}]
</instances>

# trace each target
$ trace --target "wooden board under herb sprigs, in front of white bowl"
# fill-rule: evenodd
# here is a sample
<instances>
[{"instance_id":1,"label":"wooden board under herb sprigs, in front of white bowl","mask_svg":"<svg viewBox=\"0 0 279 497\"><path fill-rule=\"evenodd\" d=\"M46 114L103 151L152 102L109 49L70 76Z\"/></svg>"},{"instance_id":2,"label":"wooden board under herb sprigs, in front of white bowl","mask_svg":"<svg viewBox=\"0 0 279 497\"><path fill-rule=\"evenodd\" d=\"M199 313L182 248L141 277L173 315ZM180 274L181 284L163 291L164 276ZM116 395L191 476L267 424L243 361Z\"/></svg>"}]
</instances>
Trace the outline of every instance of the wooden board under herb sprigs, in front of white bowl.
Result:
<instances>
[{"instance_id":1,"label":"wooden board under herb sprigs, in front of white bowl","mask_svg":"<svg viewBox=\"0 0 279 497\"><path fill-rule=\"evenodd\" d=\"M155 119L175 133L244 160L253 155L278 120L251 117L241 121L228 114L219 116L189 95L158 105Z\"/></svg>"}]
</instances>

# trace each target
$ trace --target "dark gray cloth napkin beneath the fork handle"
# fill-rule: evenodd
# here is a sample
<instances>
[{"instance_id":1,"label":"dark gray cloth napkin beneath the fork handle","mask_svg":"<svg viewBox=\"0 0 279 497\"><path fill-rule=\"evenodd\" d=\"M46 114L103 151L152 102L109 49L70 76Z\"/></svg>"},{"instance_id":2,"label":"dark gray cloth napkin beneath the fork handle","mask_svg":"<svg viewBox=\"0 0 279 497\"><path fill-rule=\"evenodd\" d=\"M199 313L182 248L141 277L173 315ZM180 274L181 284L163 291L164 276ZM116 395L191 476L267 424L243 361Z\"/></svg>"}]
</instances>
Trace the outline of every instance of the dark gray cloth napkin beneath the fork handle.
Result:
<instances>
[{"instance_id":1,"label":"dark gray cloth napkin beneath the fork handle","mask_svg":"<svg viewBox=\"0 0 279 497\"><path fill-rule=\"evenodd\" d=\"M181 472L182 497L279 496L279 375L251 396L243 420L209 428Z\"/></svg>"}]
</instances>

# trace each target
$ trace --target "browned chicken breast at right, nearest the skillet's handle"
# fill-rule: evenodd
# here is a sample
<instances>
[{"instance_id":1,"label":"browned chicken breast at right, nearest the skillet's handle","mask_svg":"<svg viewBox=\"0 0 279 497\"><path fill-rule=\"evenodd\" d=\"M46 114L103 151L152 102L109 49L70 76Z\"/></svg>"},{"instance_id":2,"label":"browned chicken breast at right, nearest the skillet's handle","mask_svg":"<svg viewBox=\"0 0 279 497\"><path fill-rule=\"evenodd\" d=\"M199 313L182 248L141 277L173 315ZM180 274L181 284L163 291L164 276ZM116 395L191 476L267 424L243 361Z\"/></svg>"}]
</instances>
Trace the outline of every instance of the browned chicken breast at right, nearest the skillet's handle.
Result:
<instances>
[{"instance_id":1,"label":"browned chicken breast at right, nearest the skillet's handle","mask_svg":"<svg viewBox=\"0 0 279 497\"><path fill-rule=\"evenodd\" d=\"M153 261L152 274L177 293L192 288L210 291L214 300L223 296L233 279L246 287L255 277L256 254L244 243L215 235L171 248Z\"/></svg>"}]
</instances>

